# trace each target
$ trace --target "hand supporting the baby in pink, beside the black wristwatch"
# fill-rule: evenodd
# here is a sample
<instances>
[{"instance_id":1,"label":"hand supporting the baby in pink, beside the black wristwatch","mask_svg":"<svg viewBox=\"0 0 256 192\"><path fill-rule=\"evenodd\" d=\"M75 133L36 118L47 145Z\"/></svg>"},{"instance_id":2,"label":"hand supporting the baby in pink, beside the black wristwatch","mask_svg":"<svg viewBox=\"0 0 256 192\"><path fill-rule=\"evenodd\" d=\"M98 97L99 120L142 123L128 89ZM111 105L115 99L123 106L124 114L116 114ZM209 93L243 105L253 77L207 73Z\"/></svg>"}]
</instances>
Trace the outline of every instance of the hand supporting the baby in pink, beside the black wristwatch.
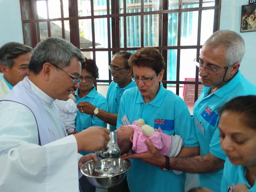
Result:
<instances>
[{"instance_id":1,"label":"hand supporting the baby in pink, beside the black wristwatch","mask_svg":"<svg viewBox=\"0 0 256 192\"><path fill-rule=\"evenodd\" d=\"M146 139L147 148L149 149L145 153L134 153L130 155L122 155L123 159L140 159L143 162L162 167L165 165L165 157L155 148L153 143Z\"/></svg>"}]
</instances>

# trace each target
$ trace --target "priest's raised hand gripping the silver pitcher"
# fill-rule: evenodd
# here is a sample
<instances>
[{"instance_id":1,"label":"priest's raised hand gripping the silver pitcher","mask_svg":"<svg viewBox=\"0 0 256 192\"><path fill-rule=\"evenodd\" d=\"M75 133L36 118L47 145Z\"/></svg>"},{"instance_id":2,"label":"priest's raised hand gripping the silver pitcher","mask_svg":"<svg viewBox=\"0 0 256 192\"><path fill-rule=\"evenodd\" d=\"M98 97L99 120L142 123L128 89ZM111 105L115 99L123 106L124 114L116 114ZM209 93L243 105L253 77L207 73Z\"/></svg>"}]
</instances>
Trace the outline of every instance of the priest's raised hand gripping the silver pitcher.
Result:
<instances>
[{"instance_id":1,"label":"priest's raised hand gripping the silver pitcher","mask_svg":"<svg viewBox=\"0 0 256 192\"><path fill-rule=\"evenodd\" d=\"M110 131L104 127L89 127L77 134L74 134L77 140L77 150L80 151L98 151L107 146L110 141Z\"/></svg>"}]
</instances>

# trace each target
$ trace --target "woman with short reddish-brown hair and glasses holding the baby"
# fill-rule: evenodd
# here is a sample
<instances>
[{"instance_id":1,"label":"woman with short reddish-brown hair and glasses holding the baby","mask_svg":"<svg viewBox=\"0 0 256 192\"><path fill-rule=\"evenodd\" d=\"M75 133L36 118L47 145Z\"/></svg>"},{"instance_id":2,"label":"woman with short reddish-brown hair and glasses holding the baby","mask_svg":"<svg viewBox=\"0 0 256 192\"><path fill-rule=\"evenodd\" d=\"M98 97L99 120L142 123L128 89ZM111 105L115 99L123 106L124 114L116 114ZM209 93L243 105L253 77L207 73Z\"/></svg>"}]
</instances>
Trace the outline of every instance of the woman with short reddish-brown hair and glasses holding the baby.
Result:
<instances>
[{"instance_id":1,"label":"woman with short reddish-brown hair and glasses holding the baby","mask_svg":"<svg viewBox=\"0 0 256 192\"><path fill-rule=\"evenodd\" d=\"M161 83L165 69L162 55L157 49L146 47L131 55L128 63L133 67L132 80L137 87L123 93L117 127L142 118L155 129L161 128L166 134L177 134L183 138L184 147L178 157L197 155L198 141L187 106L178 95L165 89ZM127 171L131 192L184 191L186 174L170 170L169 165L165 164L169 162L169 157L156 158L151 151L147 151L124 158L138 158L133 159Z\"/></svg>"}]
</instances>

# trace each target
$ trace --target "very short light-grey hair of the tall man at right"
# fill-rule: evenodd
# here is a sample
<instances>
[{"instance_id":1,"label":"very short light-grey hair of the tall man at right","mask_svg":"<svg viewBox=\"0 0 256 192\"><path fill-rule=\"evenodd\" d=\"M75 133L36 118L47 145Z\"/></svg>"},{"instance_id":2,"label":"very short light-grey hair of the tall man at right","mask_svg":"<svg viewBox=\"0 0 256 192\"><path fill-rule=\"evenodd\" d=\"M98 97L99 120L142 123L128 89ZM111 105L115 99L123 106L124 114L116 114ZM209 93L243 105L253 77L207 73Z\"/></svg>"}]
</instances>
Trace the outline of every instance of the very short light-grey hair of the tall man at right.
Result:
<instances>
[{"instance_id":1,"label":"very short light-grey hair of the tall man at right","mask_svg":"<svg viewBox=\"0 0 256 192\"><path fill-rule=\"evenodd\" d=\"M226 66L241 63L243 55L245 54L245 41L241 35L235 31L216 31L206 40L203 46L205 45L213 48L224 46L226 50Z\"/></svg>"}]
</instances>

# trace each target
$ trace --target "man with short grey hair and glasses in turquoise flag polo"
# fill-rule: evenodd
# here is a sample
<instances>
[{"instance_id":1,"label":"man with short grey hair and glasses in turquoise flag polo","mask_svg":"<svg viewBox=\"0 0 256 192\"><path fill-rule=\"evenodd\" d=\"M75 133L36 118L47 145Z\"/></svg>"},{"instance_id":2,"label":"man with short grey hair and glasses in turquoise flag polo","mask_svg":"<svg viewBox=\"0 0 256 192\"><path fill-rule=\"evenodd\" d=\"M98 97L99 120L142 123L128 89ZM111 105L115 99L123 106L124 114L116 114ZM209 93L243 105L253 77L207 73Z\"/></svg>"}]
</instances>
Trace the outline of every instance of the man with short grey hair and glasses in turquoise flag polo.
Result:
<instances>
[{"instance_id":1,"label":"man with short grey hair and glasses in turquoise flag polo","mask_svg":"<svg viewBox=\"0 0 256 192\"><path fill-rule=\"evenodd\" d=\"M200 155L169 160L171 169L199 173L199 185L213 191L220 191L226 159L219 141L218 108L234 97L256 94L256 86L239 70L244 52L243 38L234 31L219 30L206 40L194 60L204 85L193 111Z\"/></svg>"}]
</instances>

